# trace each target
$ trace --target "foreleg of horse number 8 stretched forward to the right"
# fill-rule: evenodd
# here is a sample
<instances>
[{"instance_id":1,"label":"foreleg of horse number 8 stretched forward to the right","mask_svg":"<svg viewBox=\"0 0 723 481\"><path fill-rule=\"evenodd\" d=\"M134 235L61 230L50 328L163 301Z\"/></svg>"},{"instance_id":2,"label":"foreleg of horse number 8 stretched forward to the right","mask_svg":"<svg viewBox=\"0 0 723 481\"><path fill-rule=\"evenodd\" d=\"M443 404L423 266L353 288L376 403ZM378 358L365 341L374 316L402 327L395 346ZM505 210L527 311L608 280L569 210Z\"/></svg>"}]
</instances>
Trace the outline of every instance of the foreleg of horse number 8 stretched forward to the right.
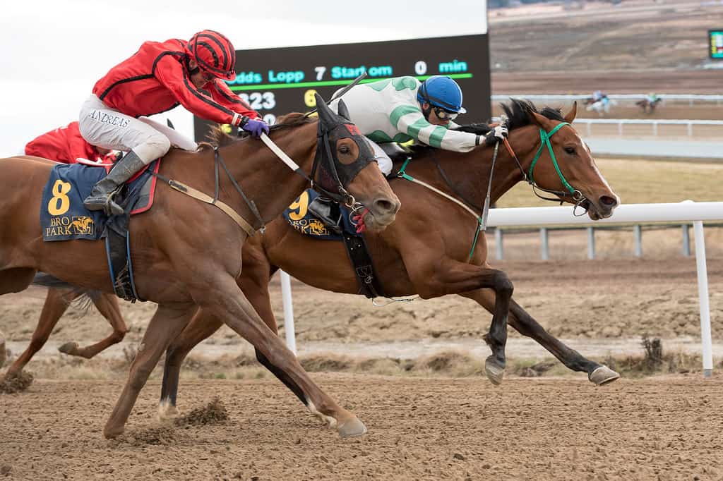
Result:
<instances>
[{"instance_id":1,"label":"foreleg of horse number 8 stretched forward to the right","mask_svg":"<svg viewBox=\"0 0 723 481\"><path fill-rule=\"evenodd\" d=\"M367 432L353 413L336 404L309 378L294 353L264 324L232 277L218 279L213 282L212 289L194 293L194 298L202 299L201 308L223 319L227 326L251 342L267 360L270 369L283 373L294 386L294 392L301 393L301 401L312 414L336 428L342 437L361 436Z\"/></svg>"}]
</instances>

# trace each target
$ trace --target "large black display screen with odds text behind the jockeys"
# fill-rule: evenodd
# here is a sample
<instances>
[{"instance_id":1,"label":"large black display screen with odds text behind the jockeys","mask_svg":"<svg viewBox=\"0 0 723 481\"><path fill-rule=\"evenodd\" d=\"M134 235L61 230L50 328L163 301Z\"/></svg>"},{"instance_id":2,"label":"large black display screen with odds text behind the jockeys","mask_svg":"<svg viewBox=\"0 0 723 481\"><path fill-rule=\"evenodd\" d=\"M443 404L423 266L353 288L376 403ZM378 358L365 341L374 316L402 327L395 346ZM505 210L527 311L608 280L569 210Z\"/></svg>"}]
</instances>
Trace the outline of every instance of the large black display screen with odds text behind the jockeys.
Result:
<instances>
[{"instance_id":1,"label":"large black display screen with odds text behind the jockeys","mask_svg":"<svg viewBox=\"0 0 723 481\"><path fill-rule=\"evenodd\" d=\"M448 75L462 87L467 109L455 122L487 121L491 115L487 34L236 51L236 79L228 87L274 123L277 116L314 108L315 92L329 100L363 71L362 83ZM197 141L208 127L194 118Z\"/></svg>"}]
</instances>

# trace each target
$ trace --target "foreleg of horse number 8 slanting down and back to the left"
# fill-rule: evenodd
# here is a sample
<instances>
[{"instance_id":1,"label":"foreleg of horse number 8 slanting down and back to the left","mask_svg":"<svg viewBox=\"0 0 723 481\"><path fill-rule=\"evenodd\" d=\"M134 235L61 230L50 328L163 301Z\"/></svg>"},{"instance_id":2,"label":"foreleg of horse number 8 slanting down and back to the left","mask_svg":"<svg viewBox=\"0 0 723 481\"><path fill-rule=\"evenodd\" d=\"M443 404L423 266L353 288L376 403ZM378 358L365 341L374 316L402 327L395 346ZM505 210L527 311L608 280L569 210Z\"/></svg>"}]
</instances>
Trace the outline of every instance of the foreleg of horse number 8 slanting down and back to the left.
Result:
<instances>
[{"instance_id":1,"label":"foreleg of horse number 8 slanting down and back to the left","mask_svg":"<svg viewBox=\"0 0 723 481\"><path fill-rule=\"evenodd\" d=\"M138 394L145 386L153 368L158 364L158 359L161 358L163 351L171 344L171 341L188 324L195 312L196 307L193 304L158 306L143 335L143 340L138 347L138 354L131 364L128 381L116 402L111 417L108 418L108 422L103 428L103 436L115 438L123 433Z\"/></svg>"}]
</instances>

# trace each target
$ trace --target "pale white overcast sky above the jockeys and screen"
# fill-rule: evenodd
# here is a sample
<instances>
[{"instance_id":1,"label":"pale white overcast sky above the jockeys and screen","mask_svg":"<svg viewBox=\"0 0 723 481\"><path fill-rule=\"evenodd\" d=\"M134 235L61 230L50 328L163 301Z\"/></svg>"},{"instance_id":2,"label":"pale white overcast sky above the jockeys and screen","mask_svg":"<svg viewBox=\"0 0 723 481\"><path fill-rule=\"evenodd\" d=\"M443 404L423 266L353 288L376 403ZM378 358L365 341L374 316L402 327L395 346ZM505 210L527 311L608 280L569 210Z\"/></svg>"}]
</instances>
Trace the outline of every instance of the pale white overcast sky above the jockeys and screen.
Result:
<instances>
[{"instance_id":1,"label":"pale white overcast sky above the jockeys and screen","mask_svg":"<svg viewBox=\"0 0 723 481\"><path fill-rule=\"evenodd\" d=\"M5 2L0 157L76 121L95 82L146 40L187 40L211 29L241 50L470 35L487 32L486 8L486 0ZM155 118L193 137L183 107Z\"/></svg>"}]
</instances>

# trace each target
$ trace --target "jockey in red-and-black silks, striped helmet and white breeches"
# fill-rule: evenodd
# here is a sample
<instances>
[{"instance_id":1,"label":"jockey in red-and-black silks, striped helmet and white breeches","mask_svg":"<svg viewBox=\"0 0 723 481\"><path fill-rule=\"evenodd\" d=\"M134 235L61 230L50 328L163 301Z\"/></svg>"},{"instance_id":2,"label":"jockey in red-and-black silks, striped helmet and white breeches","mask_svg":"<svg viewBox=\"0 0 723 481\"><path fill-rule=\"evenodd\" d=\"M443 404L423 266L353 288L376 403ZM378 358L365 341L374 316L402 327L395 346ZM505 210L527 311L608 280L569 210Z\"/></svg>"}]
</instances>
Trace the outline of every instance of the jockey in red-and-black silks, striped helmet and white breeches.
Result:
<instances>
[{"instance_id":1,"label":"jockey in red-and-black silks, striped helmet and white breeches","mask_svg":"<svg viewBox=\"0 0 723 481\"><path fill-rule=\"evenodd\" d=\"M145 42L108 71L80 110L80 133L93 145L130 152L95 184L85 207L122 214L112 199L119 186L165 155L171 145L197 148L192 140L145 116L183 105L200 118L238 126L254 137L268 133L259 114L223 82L234 78L234 45L213 30L202 30L188 42Z\"/></svg>"}]
</instances>

